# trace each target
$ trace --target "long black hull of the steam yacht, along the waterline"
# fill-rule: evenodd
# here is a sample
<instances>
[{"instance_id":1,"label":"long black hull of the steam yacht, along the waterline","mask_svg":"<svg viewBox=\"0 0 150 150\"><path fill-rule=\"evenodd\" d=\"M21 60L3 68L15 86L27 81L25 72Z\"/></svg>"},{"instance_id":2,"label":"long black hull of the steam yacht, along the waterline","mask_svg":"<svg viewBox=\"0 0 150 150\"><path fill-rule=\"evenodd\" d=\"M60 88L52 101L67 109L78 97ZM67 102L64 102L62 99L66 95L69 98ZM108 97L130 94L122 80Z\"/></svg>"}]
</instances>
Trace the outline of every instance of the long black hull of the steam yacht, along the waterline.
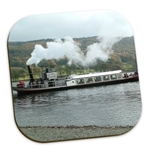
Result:
<instances>
[{"instance_id":1,"label":"long black hull of the steam yacht, along the waterline","mask_svg":"<svg viewBox=\"0 0 150 150\"><path fill-rule=\"evenodd\" d=\"M78 85L73 85L73 86L57 86L57 87L48 87L48 88L17 88L17 87L12 87L12 89L14 91L17 91L18 95L26 95L26 94L33 94L33 93L60 91L60 90L68 90L68 89L76 89L76 88L79 89L79 88L86 88L86 87L93 87L93 86L121 84L121 83L136 82L136 81L139 81L138 77L123 78L123 79L117 79L117 80L111 80L111 81L102 81L102 82L95 82L95 83L78 84Z\"/></svg>"}]
</instances>

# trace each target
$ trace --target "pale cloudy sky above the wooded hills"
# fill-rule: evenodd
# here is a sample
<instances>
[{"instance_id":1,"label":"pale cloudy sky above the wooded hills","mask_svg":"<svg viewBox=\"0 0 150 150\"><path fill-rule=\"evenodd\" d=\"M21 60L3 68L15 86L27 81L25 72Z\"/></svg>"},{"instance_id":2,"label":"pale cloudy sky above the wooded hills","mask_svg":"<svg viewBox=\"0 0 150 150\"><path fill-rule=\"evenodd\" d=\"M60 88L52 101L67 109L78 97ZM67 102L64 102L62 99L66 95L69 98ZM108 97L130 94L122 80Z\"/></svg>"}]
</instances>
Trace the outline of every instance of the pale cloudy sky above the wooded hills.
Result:
<instances>
[{"instance_id":1,"label":"pale cloudy sky above the wooded hills","mask_svg":"<svg viewBox=\"0 0 150 150\"><path fill-rule=\"evenodd\" d=\"M133 30L126 18L113 11L83 11L31 15L12 27L9 41L79 37L126 37Z\"/></svg>"}]
</instances>

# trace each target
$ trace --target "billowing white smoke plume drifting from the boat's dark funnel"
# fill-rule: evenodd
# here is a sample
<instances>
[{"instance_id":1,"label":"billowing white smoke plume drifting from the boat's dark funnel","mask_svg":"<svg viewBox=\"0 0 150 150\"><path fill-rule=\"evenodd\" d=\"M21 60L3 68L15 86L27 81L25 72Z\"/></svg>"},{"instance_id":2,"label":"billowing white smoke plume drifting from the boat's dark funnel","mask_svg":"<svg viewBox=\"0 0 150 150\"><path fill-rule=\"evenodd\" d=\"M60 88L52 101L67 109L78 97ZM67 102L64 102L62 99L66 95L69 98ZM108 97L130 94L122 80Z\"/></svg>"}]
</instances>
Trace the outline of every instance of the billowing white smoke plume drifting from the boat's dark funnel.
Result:
<instances>
[{"instance_id":1,"label":"billowing white smoke plume drifting from the boat's dark funnel","mask_svg":"<svg viewBox=\"0 0 150 150\"><path fill-rule=\"evenodd\" d=\"M61 39L56 39L54 42L47 42L47 48L37 44L26 64L37 65L42 59L59 59L64 56L68 58L69 65L74 62L84 67L95 64L98 59L101 61L107 61L110 54L113 52L112 45L117 39L99 38L99 41L99 43L89 45L86 49L86 54L81 51L79 44L77 44L71 37L65 37L63 41Z\"/></svg>"}]
</instances>

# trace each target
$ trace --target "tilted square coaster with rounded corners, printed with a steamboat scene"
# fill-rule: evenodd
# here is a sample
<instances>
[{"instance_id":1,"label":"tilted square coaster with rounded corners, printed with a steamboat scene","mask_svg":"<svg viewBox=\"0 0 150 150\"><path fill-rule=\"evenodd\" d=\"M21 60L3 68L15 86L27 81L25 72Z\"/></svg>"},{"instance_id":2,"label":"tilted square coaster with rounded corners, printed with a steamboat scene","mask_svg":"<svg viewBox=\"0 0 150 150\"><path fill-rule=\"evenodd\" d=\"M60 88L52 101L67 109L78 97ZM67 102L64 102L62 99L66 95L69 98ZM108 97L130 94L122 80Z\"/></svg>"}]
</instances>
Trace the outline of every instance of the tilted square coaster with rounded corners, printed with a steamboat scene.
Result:
<instances>
[{"instance_id":1,"label":"tilted square coaster with rounded corners, printed with a steamboat scene","mask_svg":"<svg viewBox=\"0 0 150 150\"><path fill-rule=\"evenodd\" d=\"M36 142L122 135L141 115L133 29L119 13L32 15L8 36L14 117Z\"/></svg>"}]
</instances>

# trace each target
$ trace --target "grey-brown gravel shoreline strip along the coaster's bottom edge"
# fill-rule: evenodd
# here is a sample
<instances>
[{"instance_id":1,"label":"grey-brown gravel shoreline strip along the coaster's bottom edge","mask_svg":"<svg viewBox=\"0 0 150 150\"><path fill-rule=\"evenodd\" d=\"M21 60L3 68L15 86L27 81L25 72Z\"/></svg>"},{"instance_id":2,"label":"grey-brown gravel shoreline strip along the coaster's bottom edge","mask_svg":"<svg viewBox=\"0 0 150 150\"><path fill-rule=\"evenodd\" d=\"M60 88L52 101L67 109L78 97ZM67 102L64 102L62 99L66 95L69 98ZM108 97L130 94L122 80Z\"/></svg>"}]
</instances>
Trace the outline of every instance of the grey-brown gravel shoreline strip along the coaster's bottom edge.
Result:
<instances>
[{"instance_id":1,"label":"grey-brown gravel shoreline strip along the coaster's bottom edge","mask_svg":"<svg viewBox=\"0 0 150 150\"><path fill-rule=\"evenodd\" d=\"M118 136L134 126L26 126L18 127L21 133L35 142L58 142L88 138Z\"/></svg>"}]
</instances>

